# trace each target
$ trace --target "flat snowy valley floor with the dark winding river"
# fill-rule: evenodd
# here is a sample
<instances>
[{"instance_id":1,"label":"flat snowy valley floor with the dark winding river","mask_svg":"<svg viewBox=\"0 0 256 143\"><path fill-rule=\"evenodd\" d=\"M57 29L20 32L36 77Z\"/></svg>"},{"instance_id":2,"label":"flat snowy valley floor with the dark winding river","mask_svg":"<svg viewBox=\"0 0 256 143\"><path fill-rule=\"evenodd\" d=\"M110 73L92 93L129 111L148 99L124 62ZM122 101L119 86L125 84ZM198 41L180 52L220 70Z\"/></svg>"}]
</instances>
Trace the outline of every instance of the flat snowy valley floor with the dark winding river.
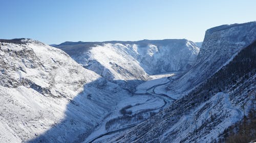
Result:
<instances>
[{"instance_id":1,"label":"flat snowy valley floor with the dark winding river","mask_svg":"<svg viewBox=\"0 0 256 143\"><path fill-rule=\"evenodd\" d=\"M167 86L180 72L151 75L139 84L132 96L122 99L113 112L84 142L104 142L137 124L147 120L177 99L167 95Z\"/></svg>"}]
</instances>

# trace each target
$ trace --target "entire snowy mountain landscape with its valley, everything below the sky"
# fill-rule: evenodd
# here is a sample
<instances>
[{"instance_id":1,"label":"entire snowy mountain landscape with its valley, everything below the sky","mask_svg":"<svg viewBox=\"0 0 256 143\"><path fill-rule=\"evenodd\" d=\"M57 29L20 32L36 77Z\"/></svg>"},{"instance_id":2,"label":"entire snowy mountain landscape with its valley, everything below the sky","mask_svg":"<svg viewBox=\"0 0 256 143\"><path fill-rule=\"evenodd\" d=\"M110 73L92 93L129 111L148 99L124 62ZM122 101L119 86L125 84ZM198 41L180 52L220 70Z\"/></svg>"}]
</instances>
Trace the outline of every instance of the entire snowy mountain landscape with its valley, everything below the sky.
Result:
<instances>
[{"instance_id":1,"label":"entire snowy mountain landscape with its valley, everything below the sky","mask_svg":"<svg viewBox=\"0 0 256 143\"><path fill-rule=\"evenodd\" d=\"M255 21L203 43L1 39L0 71L0 142L256 139Z\"/></svg>"}]
</instances>

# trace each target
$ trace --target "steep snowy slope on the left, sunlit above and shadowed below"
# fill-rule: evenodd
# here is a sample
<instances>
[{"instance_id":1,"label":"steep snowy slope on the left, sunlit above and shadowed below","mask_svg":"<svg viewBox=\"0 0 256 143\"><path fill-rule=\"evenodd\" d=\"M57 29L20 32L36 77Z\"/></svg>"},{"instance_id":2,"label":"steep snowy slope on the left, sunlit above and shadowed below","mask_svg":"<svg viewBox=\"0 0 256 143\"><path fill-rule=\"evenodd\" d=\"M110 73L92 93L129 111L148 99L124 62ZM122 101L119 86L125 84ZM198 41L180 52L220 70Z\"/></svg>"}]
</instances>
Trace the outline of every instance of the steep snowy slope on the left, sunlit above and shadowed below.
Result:
<instances>
[{"instance_id":1,"label":"steep snowy slope on the left, sunlit above and shadowed below","mask_svg":"<svg viewBox=\"0 0 256 143\"><path fill-rule=\"evenodd\" d=\"M130 95L31 39L0 40L0 71L0 142L73 142Z\"/></svg>"}]
</instances>

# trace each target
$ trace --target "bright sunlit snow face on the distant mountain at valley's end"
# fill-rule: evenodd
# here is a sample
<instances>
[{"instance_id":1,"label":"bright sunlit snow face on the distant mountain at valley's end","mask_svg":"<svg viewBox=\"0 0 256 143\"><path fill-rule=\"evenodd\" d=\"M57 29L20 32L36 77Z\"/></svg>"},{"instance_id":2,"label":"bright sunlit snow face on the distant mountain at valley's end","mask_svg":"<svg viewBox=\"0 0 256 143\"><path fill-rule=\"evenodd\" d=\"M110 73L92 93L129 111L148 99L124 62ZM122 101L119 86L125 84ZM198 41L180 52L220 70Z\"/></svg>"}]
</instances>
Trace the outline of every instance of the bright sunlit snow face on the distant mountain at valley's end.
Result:
<instances>
[{"instance_id":1,"label":"bright sunlit snow face on the distant mountain at valley's end","mask_svg":"<svg viewBox=\"0 0 256 143\"><path fill-rule=\"evenodd\" d=\"M92 50L90 50L90 55L93 57L94 60L98 61L101 65L103 65L104 68L110 70L110 72L115 77L114 80L137 79L134 75L140 73L142 79L147 77L147 74L139 66L139 63L131 55L123 51L122 48L125 47L121 44L105 44L104 46L96 46L92 48ZM121 68L124 69L123 73L122 69L115 69L115 64L121 66Z\"/></svg>"}]
</instances>

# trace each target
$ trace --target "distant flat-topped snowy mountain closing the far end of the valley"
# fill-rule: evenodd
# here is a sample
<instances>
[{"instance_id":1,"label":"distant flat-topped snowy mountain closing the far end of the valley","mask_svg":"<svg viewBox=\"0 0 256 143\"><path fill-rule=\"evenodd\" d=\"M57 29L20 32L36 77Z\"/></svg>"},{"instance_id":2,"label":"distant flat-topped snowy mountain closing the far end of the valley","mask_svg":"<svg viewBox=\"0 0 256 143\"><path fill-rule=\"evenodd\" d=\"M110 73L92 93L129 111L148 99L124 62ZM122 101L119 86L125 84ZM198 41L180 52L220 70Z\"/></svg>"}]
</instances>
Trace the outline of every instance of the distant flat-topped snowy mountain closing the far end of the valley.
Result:
<instances>
[{"instance_id":1,"label":"distant flat-topped snowy mountain closing the far end of the valley","mask_svg":"<svg viewBox=\"0 0 256 143\"><path fill-rule=\"evenodd\" d=\"M199 52L185 39L65 42L55 47L108 80L145 80L148 74L187 70Z\"/></svg>"}]
</instances>

